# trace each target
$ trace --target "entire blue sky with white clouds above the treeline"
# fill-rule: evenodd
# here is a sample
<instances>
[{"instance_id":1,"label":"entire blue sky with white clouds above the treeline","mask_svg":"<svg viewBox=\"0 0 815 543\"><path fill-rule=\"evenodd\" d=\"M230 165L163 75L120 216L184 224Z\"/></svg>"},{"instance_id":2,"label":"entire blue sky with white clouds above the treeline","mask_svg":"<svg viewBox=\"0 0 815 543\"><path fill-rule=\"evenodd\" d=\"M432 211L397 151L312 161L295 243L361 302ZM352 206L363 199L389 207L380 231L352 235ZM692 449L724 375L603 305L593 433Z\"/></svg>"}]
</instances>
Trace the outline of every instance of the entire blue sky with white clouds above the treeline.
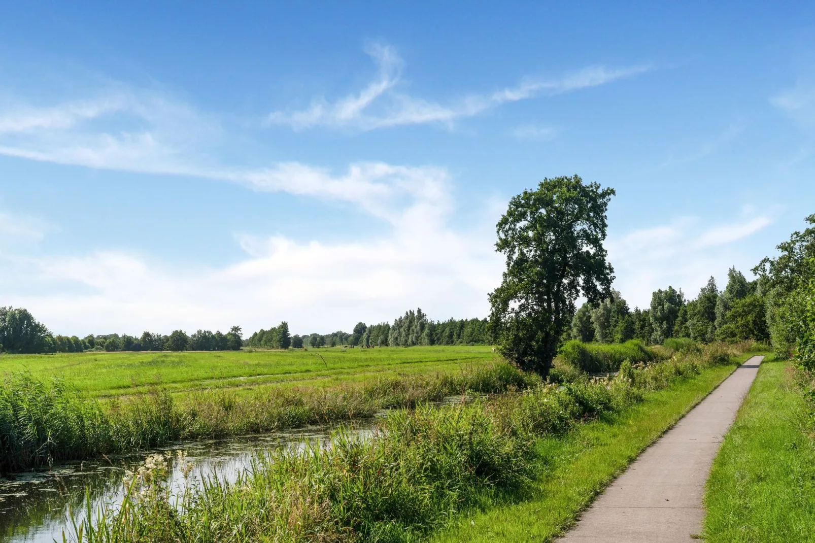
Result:
<instances>
[{"instance_id":1,"label":"entire blue sky with white clouds above the treeline","mask_svg":"<svg viewBox=\"0 0 815 543\"><path fill-rule=\"evenodd\" d=\"M815 212L811 2L166 3L3 7L0 304L55 333L486 316L547 176L617 190L632 307Z\"/></svg>"}]
</instances>

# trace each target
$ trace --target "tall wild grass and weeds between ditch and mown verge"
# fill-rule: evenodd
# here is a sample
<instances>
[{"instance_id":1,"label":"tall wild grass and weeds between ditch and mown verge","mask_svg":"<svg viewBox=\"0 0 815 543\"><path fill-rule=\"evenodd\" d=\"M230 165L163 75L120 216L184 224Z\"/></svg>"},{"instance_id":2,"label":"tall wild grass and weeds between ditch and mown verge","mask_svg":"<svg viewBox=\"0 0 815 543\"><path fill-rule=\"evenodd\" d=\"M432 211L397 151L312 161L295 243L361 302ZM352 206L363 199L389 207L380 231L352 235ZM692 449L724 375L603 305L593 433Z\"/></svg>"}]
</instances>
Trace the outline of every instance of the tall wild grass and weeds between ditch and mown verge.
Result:
<instances>
[{"instance_id":1,"label":"tall wild grass and weeds between ditch and mown verge","mask_svg":"<svg viewBox=\"0 0 815 543\"><path fill-rule=\"evenodd\" d=\"M624 362L613 377L539 383L494 400L401 410L369 439L338 430L328 447L279 448L234 483L211 475L200 486L187 485L178 502L159 473L169 459L154 459L134 475L123 504L89 514L96 522L78 524L72 539L419 541L492 492L522 490L538 466L538 439L730 364L721 358L728 349L703 347L647 365Z\"/></svg>"}]
</instances>

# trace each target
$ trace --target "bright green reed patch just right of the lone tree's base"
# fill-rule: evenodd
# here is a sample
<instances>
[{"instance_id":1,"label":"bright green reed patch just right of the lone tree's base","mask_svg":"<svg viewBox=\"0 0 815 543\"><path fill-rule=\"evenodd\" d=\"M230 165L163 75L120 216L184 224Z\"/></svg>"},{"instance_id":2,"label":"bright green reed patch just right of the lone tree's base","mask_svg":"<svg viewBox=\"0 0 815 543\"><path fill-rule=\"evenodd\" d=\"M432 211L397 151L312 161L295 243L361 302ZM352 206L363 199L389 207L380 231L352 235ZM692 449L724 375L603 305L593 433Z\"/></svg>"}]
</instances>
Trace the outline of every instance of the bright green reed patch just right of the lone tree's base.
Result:
<instances>
[{"instance_id":1,"label":"bright green reed patch just right of the lone tree's base","mask_svg":"<svg viewBox=\"0 0 815 543\"><path fill-rule=\"evenodd\" d=\"M587 373L615 372L623 361L650 362L656 356L636 339L623 344L566 342L557 351L558 359Z\"/></svg>"}]
</instances>

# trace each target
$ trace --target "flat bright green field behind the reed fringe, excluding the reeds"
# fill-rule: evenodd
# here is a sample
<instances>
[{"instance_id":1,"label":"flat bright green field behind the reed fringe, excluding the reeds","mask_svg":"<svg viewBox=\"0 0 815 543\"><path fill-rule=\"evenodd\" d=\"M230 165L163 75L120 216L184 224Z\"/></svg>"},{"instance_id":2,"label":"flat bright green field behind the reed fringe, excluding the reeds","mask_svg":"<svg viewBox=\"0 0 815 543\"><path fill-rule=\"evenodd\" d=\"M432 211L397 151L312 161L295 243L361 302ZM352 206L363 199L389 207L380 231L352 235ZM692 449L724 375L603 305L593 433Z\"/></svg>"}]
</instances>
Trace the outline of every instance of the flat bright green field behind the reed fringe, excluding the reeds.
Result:
<instances>
[{"instance_id":1,"label":"flat bright green field behind the reed fringe, excluding the reeds","mask_svg":"<svg viewBox=\"0 0 815 543\"><path fill-rule=\"evenodd\" d=\"M0 374L63 377L93 396L257 386L337 386L396 374L451 372L497 360L491 347L329 347L306 351L85 352L0 355Z\"/></svg>"}]
</instances>

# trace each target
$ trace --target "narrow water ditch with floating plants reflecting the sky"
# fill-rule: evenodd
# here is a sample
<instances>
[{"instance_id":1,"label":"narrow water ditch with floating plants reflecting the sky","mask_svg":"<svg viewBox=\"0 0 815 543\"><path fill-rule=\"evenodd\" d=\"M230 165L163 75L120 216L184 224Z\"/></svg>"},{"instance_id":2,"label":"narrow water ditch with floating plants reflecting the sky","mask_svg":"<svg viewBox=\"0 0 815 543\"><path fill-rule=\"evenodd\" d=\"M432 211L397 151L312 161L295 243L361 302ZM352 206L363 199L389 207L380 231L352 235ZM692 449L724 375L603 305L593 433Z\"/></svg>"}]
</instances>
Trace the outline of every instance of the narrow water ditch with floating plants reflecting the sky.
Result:
<instances>
[{"instance_id":1,"label":"narrow water ditch with floating plants reflecting the sky","mask_svg":"<svg viewBox=\"0 0 815 543\"><path fill-rule=\"evenodd\" d=\"M455 404L460 396L448 396L431 405ZM0 477L0 543L53 543L62 541L63 531L71 532L70 513L79 520L86 518L86 493L92 510L117 504L122 498L122 479L151 454L181 451L194 465L185 479L179 462L170 463L170 488L182 492L185 484L196 484L217 473L234 481L252 466L253 458L270 448L302 447L307 440L328 444L334 430L345 426L355 435L372 435L377 423L387 417L385 409L368 419L303 426L263 435L186 441L130 455L94 458L86 461L61 462L51 470L26 471Z\"/></svg>"}]
</instances>

